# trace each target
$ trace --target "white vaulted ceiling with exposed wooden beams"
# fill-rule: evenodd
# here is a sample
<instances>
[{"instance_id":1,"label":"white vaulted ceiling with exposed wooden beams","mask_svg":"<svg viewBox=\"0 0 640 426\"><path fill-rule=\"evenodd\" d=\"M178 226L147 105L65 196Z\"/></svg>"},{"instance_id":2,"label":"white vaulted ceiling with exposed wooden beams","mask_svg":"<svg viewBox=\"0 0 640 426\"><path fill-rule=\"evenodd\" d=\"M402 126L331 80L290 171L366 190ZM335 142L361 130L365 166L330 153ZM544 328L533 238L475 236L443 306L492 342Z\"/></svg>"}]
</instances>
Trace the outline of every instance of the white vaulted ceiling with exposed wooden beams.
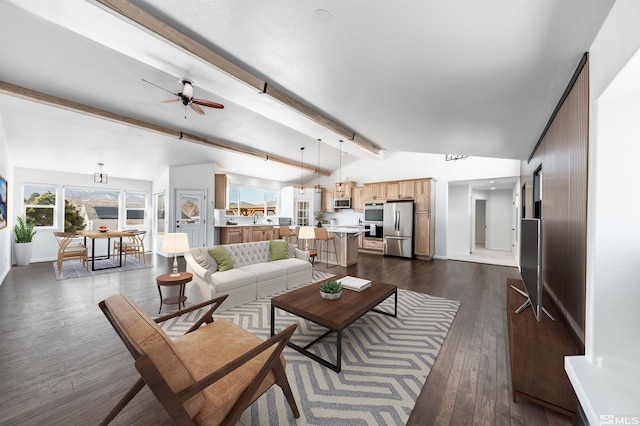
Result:
<instances>
[{"instance_id":1,"label":"white vaulted ceiling with exposed wooden beams","mask_svg":"<svg viewBox=\"0 0 640 426\"><path fill-rule=\"evenodd\" d=\"M135 179L294 182L341 149L526 159L612 4L5 0L0 120L15 166ZM163 103L183 79L225 108Z\"/></svg>"}]
</instances>

